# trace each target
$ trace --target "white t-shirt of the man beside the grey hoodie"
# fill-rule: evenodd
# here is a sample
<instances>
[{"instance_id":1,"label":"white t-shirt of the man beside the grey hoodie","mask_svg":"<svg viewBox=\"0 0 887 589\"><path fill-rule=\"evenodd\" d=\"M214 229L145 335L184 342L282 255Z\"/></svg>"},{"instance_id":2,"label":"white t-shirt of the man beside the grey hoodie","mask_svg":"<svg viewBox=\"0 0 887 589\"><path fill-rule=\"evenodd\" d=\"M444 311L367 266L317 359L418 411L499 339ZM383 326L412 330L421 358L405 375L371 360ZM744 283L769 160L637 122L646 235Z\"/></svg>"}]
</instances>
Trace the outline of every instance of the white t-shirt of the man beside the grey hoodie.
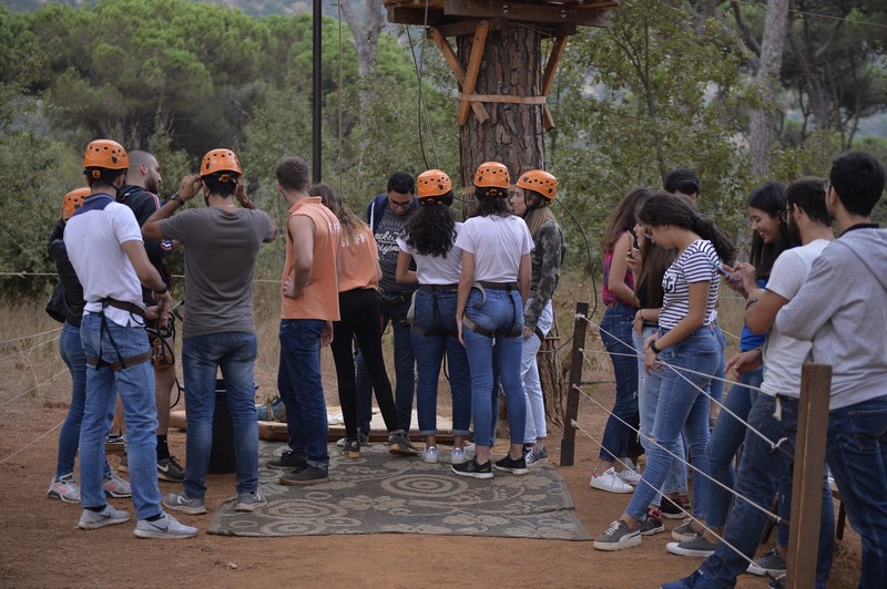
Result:
<instances>
[{"instance_id":1,"label":"white t-shirt of the man beside the grey hoodie","mask_svg":"<svg viewBox=\"0 0 887 589\"><path fill-rule=\"evenodd\" d=\"M813 260L829 241L816 239L806 246L786 249L769 272L767 290L789 301L807 281ZM781 311L782 312L782 311ZM801 365L807 359L813 342L801 341L782 333L774 322L764 344L764 382L761 390L767 394L801 396Z\"/></svg>"}]
</instances>

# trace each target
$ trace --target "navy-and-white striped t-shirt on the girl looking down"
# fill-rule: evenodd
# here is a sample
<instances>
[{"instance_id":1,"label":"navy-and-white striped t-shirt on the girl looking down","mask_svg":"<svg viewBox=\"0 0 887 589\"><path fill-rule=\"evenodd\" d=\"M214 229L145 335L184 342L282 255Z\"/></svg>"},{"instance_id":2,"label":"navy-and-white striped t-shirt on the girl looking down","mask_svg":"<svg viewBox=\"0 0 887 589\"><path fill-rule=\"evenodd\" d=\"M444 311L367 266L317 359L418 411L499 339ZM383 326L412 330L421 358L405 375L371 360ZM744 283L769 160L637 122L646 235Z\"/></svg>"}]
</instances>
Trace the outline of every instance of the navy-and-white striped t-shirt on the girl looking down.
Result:
<instances>
[{"instance_id":1,"label":"navy-and-white striped t-shirt on the girl looking down","mask_svg":"<svg viewBox=\"0 0 887 589\"><path fill-rule=\"evenodd\" d=\"M721 281L715 268L721 265L714 246L706 239L696 239L690 244L676 260L665 270L662 277L662 311L659 326L664 330L673 329L690 312L690 285L693 282L711 282L708 300L705 304L704 326L708 326L717 317L714 307Z\"/></svg>"}]
</instances>

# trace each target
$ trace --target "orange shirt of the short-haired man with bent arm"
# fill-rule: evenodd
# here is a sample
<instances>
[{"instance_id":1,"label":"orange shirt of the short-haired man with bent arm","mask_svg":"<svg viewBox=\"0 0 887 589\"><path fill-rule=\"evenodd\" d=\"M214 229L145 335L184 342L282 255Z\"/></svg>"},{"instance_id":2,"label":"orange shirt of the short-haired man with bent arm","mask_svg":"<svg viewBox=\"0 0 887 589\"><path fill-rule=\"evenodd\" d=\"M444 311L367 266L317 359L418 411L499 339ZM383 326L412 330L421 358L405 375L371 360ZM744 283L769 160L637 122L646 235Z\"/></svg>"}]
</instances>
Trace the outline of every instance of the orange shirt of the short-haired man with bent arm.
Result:
<instances>
[{"instance_id":1,"label":"orange shirt of the short-haired man with bent arm","mask_svg":"<svg viewBox=\"0 0 887 589\"><path fill-rule=\"evenodd\" d=\"M314 221L314 264L308 286L297 298L283 296L283 282L293 276L293 236L289 235L289 217L304 215ZM341 247L341 226L333 213L320 204L319 196L302 198L287 215L286 260L281 278L282 319L339 320L339 280L336 259Z\"/></svg>"}]
</instances>

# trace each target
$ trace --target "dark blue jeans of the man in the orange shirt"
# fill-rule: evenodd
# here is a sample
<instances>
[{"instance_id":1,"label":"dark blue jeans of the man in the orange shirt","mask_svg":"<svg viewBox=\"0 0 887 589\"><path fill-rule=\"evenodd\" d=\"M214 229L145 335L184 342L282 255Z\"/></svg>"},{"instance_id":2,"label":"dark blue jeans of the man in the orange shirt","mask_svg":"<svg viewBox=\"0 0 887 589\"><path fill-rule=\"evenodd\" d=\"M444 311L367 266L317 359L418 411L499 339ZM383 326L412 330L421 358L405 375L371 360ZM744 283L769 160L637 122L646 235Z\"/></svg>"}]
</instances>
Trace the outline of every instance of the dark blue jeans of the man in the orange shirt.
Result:
<instances>
[{"instance_id":1,"label":"dark blue jeans of the man in the orange shirt","mask_svg":"<svg viewBox=\"0 0 887 589\"><path fill-rule=\"evenodd\" d=\"M281 320L281 366L277 388L286 407L289 448L306 456L309 465L329 466L326 399L320 374L320 333L326 321L319 319Z\"/></svg>"}]
</instances>

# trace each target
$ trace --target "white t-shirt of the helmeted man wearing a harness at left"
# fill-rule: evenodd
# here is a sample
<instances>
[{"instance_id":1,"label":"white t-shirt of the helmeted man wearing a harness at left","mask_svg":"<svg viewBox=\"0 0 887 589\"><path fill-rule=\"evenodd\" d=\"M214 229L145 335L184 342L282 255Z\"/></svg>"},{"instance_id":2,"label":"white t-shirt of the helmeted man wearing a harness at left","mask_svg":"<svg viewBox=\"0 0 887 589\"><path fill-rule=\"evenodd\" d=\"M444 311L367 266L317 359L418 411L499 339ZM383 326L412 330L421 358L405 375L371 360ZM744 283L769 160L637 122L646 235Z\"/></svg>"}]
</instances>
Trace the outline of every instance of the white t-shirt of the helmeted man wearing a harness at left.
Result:
<instances>
[{"instance_id":1,"label":"white t-shirt of the helmeted man wearing a harness at left","mask_svg":"<svg viewBox=\"0 0 887 589\"><path fill-rule=\"evenodd\" d=\"M99 301L108 297L144 309L142 283L121 247L126 241L143 244L142 230L126 205L111 200L102 208L110 198L108 195L88 197L83 207L92 204L95 209L79 211L64 228L64 247L83 286L85 312L100 312L102 303ZM105 308L104 314L122 327L143 324L140 317L115 307Z\"/></svg>"}]
</instances>

